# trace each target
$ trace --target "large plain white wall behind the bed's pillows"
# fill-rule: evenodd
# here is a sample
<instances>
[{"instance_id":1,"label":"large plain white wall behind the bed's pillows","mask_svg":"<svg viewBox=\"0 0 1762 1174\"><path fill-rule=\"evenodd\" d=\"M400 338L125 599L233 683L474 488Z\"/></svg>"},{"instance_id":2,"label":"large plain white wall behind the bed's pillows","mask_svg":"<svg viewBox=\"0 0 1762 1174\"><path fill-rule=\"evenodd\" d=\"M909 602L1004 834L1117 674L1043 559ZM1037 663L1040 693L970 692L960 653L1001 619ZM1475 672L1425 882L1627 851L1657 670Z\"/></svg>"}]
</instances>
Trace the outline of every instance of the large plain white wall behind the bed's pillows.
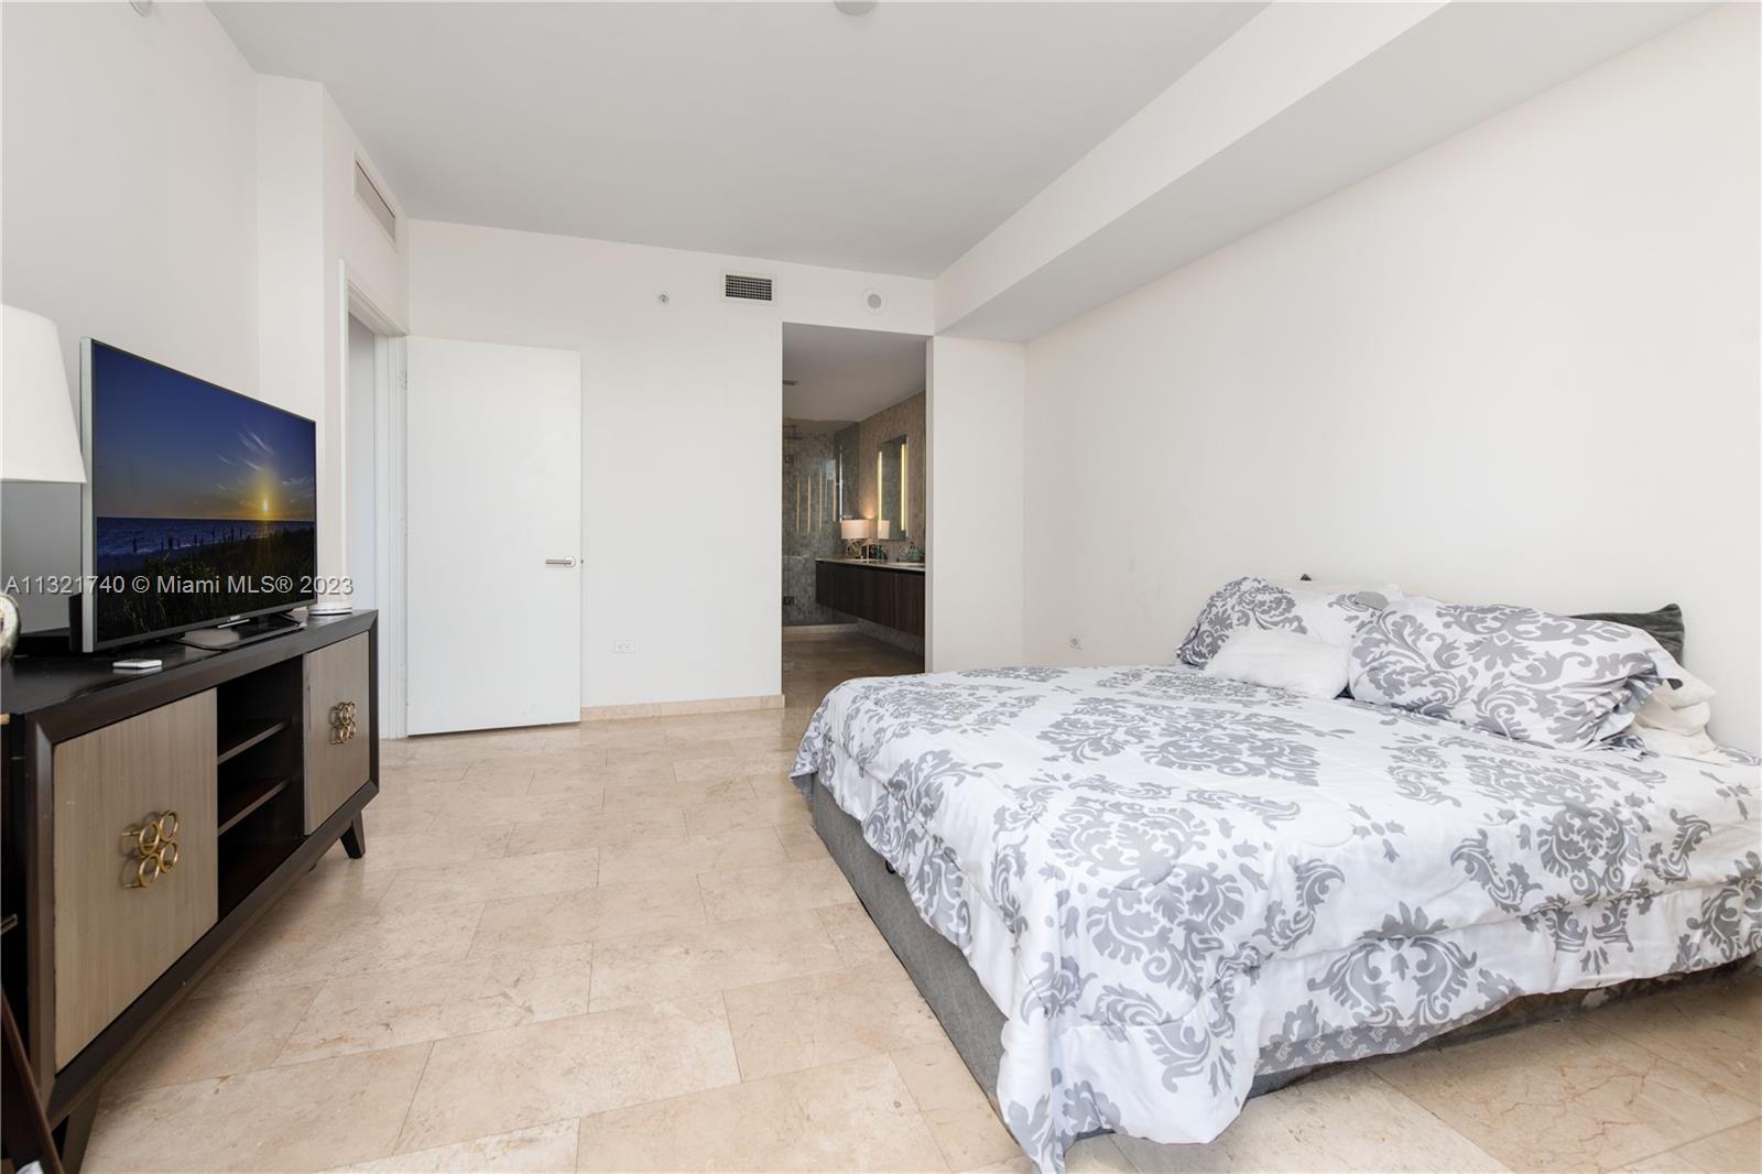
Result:
<instances>
[{"instance_id":1,"label":"large plain white wall behind the bed's pillows","mask_svg":"<svg viewBox=\"0 0 1762 1174\"><path fill-rule=\"evenodd\" d=\"M1690 21L1034 340L1029 656L1166 661L1246 573L1677 601L1757 747L1757 37Z\"/></svg>"}]
</instances>

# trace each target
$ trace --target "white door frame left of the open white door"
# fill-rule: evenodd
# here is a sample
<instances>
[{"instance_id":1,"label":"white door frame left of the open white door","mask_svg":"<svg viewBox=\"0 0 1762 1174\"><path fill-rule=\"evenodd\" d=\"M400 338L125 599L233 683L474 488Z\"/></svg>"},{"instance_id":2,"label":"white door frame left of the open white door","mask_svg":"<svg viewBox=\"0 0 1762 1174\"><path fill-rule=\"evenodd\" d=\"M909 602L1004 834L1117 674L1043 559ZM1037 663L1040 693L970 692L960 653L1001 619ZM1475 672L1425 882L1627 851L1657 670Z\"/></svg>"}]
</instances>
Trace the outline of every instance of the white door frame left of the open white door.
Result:
<instances>
[{"instance_id":1,"label":"white door frame left of the open white door","mask_svg":"<svg viewBox=\"0 0 1762 1174\"><path fill-rule=\"evenodd\" d=\"M405 652L405 483L403 483L403 430L407 375L403 367L403 338L409 333L388 314L372 291L356 282L347 261L338 261L342 284L342 338L340 363L344 388L349 379L349 319L356 317L374 331L374 583L379 610L379 737L405 737L405 698L409 658ZM342 397L344 450L349 444L349 397ZM347 539L349 485L344 478L342 525ZM344 541L347 550L347 541Z\"/></svg>"}]
</instances>

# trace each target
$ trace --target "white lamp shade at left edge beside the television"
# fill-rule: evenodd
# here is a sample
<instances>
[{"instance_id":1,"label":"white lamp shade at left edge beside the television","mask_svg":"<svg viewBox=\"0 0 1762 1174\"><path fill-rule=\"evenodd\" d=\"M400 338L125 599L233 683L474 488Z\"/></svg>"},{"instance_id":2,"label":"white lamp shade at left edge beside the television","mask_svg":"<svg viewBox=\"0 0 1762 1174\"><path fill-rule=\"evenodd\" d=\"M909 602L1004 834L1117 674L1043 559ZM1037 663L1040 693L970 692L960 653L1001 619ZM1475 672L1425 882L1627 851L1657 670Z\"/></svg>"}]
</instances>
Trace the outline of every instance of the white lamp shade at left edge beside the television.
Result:
<instances>
[{"instance_id":1,"label":"white lamp shade at left edge beside the television","mask_svg":"<svg viewBox=\"0 0 1762 1174\"><path fill-rule=\"evenodd\" d=\"M0 479L85 481L55 323L0 307Z\"/></svg>"}]
</instances>

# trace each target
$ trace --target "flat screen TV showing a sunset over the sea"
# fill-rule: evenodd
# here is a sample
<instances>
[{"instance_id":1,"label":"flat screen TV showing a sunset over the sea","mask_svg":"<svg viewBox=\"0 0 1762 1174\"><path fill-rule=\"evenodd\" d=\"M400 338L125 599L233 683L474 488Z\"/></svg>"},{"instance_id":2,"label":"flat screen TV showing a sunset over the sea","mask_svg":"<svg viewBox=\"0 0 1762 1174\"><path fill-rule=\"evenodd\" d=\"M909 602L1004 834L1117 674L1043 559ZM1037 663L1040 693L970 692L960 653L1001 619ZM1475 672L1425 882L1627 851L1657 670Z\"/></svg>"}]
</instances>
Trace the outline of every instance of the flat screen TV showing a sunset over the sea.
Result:
<instances>
[{"instance_id":1,"label":"flat screen TV showing a sunset over the sea","mask_svg":"<svg viewBox=\"0 0 1762 1174\"><path fill-rule=\"evenodd\" d=\"M317 428L81 340L86 652L314 601Z\"/></svg>"}]
</instances>

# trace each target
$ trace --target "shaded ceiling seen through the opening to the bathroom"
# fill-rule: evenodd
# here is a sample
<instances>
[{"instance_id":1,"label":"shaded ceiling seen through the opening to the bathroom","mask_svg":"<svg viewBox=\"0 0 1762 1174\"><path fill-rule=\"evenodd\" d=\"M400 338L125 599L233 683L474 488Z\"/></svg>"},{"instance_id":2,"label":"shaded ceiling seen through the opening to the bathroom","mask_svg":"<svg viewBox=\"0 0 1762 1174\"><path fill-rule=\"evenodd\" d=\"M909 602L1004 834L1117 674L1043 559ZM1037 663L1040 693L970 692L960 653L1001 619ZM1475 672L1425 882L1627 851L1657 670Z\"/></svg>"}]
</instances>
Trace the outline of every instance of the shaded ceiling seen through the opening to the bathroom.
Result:
<instances>
[{"instance_id":1,"label":"shaded ceiling seen through the opening to the bathroom","mask_svg":"<svg viewBox=\"0 0 1762 1174\"><path fill-rule=\"evenodd\" d=\"M786 420L865 420L923 391L925 338L839 326L782 326Z\"/></svg>"}]
</instances>

